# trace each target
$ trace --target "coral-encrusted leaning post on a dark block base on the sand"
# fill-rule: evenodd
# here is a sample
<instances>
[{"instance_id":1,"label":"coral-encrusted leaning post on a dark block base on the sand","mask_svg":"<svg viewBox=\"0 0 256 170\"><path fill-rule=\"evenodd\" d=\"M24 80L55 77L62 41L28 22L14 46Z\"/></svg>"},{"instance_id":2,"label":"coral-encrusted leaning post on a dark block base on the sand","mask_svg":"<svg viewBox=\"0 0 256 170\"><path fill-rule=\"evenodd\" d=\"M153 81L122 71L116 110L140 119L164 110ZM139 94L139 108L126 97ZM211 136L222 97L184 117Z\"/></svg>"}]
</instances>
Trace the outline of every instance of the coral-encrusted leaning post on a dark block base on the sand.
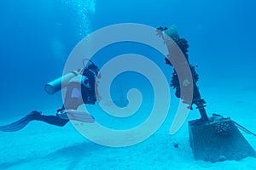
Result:
<instances>
[{"instance_id":1,"label":"coral-encrusted leaning post on a dark block base on the sand","mask_svg":"<svg viewBox=\"0 0 256 170\"><path fill-rule=\"evenodd\" d=\"M158 27L159 31L163 31L168 37L171 37L177 43L178 48L183 52L183 55L189 63L189 43L185 38L180 38L175 27ZM170 57L170 56L169 56ZM176 90L176 97L182 99L186 103L186 99L181 95L181 88L183 86L179 82L179 77L174 66L166 57L166 65L173 67L171 86ZM206 101L201 98L197 82L199 75L195 71L195 66L190 65L190 71L193 79L193 99L189 104L189 109L192 110L192 105L196 105L201 118L189 121L189 143L193 150L195 160L203 161L239 161L247 156L256 157L256 152L253 147L244 138L241 131L245 133L254 133L242 127L240 124L231 120L230 117L224 117L213 113L212 116L207 116L205 109ZM240 130L239 130L240 129Z\"/></svg>"}]
</instances>

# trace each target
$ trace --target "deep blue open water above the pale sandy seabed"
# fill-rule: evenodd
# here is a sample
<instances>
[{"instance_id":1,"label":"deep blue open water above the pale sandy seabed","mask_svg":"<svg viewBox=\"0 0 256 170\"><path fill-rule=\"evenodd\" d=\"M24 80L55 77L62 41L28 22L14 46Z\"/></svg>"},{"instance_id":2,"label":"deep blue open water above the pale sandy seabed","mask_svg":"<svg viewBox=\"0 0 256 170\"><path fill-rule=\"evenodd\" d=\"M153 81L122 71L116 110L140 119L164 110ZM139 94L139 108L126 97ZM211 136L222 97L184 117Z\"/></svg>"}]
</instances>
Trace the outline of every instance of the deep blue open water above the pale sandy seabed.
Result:
<instances>
[{"instance_id":1,"label":"deep blue open water above the pale sandy seabed","mask_svg":"<svg viewBox=\"0 0 256 170\"><path fill-rule=\"evenodd\" d=\"M45 82L61 76L68 54L86 34L124 22L177 26L189 41L191 63L199 65L201 88L256 84L253 0L95 0L90 8L84 2L1 2L1 119L61 107L61 94L46 94Z\"/></svg>"}]
</instances>

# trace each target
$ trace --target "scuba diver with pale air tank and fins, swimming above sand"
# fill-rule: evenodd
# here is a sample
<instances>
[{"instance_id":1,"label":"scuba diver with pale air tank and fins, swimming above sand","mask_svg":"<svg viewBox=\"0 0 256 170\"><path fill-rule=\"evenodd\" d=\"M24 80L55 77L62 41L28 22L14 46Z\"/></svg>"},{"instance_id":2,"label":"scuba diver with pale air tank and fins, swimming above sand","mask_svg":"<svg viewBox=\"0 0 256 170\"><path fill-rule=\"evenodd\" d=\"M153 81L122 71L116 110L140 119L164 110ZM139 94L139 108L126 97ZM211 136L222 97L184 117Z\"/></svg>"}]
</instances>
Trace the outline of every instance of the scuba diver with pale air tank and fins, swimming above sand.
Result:
<instances>
[{"instance_id":1,"label":"scuba diver with pale air tank and fins, swimming above sand","mask_svg":"<svg viewBox=\"0 0 256 170\"><path fill-rule=\"evenodd\" d=\"M67 87L64 104L57 110L55 116L46 116L40 111L32 111L17 122L0 126L0 131L15 132L26 127L31 121L46 122L59 127L65 126L69 120L95 122L94 117L87 112L77 111L79 105L95 105L97 99L100 99L96 90L96 77L101 77L99 69L90 59L84 60L89 60L90 65L87 67L84 65L81 71L70 71L65 76L45 85L44 88L48 94L55 94L61 88Z\"/></svg>"}]
</instances>

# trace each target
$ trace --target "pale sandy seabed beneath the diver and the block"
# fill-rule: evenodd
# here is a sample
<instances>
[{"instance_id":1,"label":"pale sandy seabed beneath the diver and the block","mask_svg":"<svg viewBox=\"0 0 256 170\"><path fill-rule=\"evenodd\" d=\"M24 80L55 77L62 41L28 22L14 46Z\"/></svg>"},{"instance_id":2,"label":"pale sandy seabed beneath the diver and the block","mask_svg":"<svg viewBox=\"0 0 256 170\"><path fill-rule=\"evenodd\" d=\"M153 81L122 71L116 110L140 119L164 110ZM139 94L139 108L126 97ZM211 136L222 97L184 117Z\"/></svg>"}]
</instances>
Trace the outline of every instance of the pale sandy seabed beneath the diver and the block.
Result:
<instances>
[{"instance_id":1,"label":"pale sandy seabed beneath the diver and the block","mask_svg":"<svg viewBox=\"0 0 256 170\"><path fill-rule=\"evenodd\" d=\"M253 90L218 92L205 89L207 111L213 111L233 120L256 133L253 112ZM243 93L243 94L241 94ZM218 95L216 95L218 94ZM191 111L188 120L198 118L198 111ZM187 122L175 135L170 135L172 116L157 133L143 143L125 147L109 148L84 139L68 123L66 127L49 126L43 122L31 122L15 133L0 133L0 169L255 169L256 159L247 157L241 161L207 162L195 161L189 147ZM256 137L243 133L256 149ZM178 144L174 148L173 144Z\"/></svg>"}]
</instances>

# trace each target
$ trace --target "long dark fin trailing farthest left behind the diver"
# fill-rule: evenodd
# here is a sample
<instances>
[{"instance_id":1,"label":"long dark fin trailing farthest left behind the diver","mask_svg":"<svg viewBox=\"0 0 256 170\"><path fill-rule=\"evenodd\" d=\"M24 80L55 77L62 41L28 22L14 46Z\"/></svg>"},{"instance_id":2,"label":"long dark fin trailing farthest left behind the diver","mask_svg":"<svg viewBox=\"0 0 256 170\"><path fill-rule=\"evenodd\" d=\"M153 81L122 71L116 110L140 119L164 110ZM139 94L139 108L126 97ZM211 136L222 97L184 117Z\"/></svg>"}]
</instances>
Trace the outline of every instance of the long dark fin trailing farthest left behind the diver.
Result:
<instances>
[{"instance_id":1,"label":"long dark fin trailing farthest left behind the diver","mask_svg":"<svg viewBox=\"0 0 256 170\"><path fill-rule=\"evenodd\" d=\"M9 125L0 126L0 131L3 132L15 132L23 127L26 127L26 125L31 122L32 120L35 120L35 117L41 115L41 112L38 111L32 111L30 114L26 115L25 117L21 118L19 121L13 122Z\"/></svg>"}]
</instances>

